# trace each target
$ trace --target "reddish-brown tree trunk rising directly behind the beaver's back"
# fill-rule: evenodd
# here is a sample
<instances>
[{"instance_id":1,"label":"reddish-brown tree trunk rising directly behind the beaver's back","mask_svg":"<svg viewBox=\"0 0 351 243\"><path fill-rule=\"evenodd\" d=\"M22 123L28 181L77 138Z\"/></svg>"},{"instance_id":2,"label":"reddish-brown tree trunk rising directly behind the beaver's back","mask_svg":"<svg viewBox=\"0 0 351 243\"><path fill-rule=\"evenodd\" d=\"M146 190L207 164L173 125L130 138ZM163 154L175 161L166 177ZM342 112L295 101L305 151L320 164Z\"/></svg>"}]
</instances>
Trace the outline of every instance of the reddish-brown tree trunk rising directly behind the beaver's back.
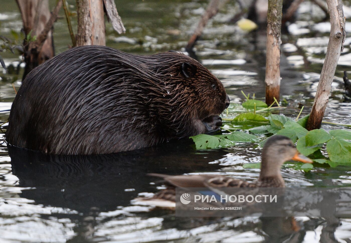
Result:
<instances>
[{"instance_id":1,"label":"reddish-brown tree trunk rising directly behind the beaver's back","mask_svg":"<svg viewBox=\"0 0 351 243\"><path fill-rule=\"evenodd\" d=\"M103 0L77 0L77 46L105 46Z\"/></svg>"}]
</instances>

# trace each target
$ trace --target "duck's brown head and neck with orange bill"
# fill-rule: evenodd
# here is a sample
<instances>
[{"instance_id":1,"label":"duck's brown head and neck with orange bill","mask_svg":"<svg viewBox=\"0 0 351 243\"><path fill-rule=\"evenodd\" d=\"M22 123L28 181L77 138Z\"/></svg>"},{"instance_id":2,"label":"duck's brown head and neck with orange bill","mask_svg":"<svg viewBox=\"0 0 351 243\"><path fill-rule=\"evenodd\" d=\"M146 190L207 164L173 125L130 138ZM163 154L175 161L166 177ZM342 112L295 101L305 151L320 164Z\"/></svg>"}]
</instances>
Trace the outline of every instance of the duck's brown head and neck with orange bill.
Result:
<instances>
[{"instance_id":1,"label":"duck's brown head and neck with orange bill","mask_svg":"<svg viewBox=\"0 0 351 243\"><path fill-rule=\"evenodd\" d=\"M289 160L312 163L312 160L297 151L288 137L281 135L270 137L262 149L260 177L280 176L280 168Z\"/></svg>"}]
</instances>

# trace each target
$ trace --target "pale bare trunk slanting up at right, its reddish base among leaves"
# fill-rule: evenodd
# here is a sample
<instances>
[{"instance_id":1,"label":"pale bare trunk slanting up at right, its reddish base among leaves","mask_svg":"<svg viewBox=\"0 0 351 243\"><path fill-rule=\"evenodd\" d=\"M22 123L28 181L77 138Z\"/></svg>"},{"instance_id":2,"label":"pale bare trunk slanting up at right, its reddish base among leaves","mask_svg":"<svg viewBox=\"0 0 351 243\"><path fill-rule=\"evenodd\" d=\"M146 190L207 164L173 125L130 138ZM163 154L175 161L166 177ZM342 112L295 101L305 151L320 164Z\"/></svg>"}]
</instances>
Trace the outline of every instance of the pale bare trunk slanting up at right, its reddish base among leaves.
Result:
<instances>
[{"instance_id":1,"label":"pale bare trunk slanting up at right, its reddish base among leaves","mask_svg":"<svg viewBox=\"0 0 351 243\"><path fill-rule=\"evenodd\" d=\"M311 110L311 115L307 122L307 130L320 128L322 124L325 108L329 101L331 84L334 79L336 66L338 64L340 53L343 51L345 41L345 17L343 12L342 0L326 0L330 15L330 36L327 47L327 53L320 74L317 86L316 97Z\"/></svg>"}]
</instances>

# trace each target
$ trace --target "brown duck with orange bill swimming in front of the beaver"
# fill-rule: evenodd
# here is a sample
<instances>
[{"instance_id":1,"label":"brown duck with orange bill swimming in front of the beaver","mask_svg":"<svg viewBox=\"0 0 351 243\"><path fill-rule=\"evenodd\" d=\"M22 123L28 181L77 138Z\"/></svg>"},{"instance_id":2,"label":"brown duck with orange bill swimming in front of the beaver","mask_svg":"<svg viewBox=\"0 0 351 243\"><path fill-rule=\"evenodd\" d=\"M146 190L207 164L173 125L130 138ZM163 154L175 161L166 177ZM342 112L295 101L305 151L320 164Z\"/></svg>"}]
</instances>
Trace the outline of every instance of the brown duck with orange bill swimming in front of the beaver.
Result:
<instances>
[{"instance_id":1,"label":"brown duck with orange bill swimming in front of the beaver","mask_svg":"<svg viewBox=\"0 0 351 243\"><path fill-rule=\"evenodd\" d=\"M154 194L151 198L135 198L132 203L138 205L154 205L156 207L172 205L173 207L176 202L177 187L202 187L209 188L210 190L211 188L220 187L285 187L280 168L286 161L290 160L303 163L313 162L310 158L298 152L291 139L282 135L273 135L266 140L266 143L263 146L261 153L261 171L260 176L256 181L247 182L229 176L216 174L148 174L150 176L162 178L166 188ZM170 202L172 203L169 204Z\"/></svg>"}]
</instances>

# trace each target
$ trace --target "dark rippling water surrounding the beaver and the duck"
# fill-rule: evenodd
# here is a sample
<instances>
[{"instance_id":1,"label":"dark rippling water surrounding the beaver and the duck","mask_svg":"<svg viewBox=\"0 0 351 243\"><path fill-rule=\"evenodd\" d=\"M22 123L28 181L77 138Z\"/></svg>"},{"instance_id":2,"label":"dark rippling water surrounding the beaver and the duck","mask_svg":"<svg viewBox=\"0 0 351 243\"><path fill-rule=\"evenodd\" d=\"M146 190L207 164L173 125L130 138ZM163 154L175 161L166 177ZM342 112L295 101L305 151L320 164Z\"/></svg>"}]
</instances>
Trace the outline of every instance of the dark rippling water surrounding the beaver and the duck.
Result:
<instances>
[{"instance_id":1,"label":"dark rippling water surrounding the beaver and the duck","mask_svg":"<svg viewBox=\"0 0 351 243\"><path fill-rule=\"evenodd\" d=\"M74 1L68 2L74 5ZM184 51L206 4L185 0L116 1L127 33L118 36L107 24L107 46L138 54ZM289 103L282 113L292 117L299 113L299 103L305 106L302 115L310 111L327 46L328 23L316 23L323 13L311 6L307 1L301 5L297 21L282 36L281 94ZM229 3L210 21L196 47L199 60L223 81L232 104L243 102L241 90L264 97L265 77L266 33L246 33L228 22L236 11L235 3ZM346 17L351 15L349 7L344 11ZM1 1L0 22L1 34L12 38L11 30L19 33L22 23L14 1ZM351 123L351 105L345 99L341 78L344 70L351 70L349 36L325 121ZM55 23L54 38L57 53L68 48L64 18ZM7 65L18 64L18 55L0 54ZM1 74L0 110L11 107L15 96L11 80L16 80L18 89L20 77L21 73ZM0 113L1 121L7 117L8 112ZM323 128L347 129L330 125ZM149 207L130 204L139 193L154 193L161 188L155 184L157 179L146 173L221 173L255 180L258 169L243 169L245 163L260 161L260 148L252 144L196 151L185 139L97 156L48 156L7 148L4 142L0 149L1 242L350 242L348 218L300 217L294 227L285 218L175 218L170 211L150 211ZM282 169L288 187L349 186L350 173L350 167L317 168L309 173Z\"/></svg>"}]
</instances>

